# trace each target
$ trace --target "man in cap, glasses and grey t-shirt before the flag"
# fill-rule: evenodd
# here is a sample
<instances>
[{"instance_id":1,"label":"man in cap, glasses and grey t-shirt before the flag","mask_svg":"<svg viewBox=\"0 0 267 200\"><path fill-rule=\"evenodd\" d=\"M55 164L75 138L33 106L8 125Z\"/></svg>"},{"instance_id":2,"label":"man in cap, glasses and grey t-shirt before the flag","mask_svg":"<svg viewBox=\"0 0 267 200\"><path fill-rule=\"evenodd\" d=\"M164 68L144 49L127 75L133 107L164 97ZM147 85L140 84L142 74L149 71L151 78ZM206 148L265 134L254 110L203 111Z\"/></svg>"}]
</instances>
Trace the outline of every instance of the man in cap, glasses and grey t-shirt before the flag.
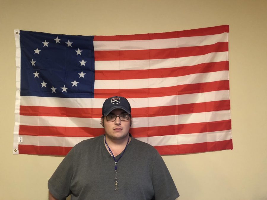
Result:
<instances>
[{"instance_id":1,"label":"man in cap, glasses and grey t-shirt before the flag","mask_svg":"<svg viewBox=\"0 0 267 200\"><path fill-rule=\"evenodd\" d=\"M175 199L171 175L151 145L129 133L131 105L110 97L102 107L105 135L75 145L48 181L49 199Z\"/></svg>"}]
</instances>

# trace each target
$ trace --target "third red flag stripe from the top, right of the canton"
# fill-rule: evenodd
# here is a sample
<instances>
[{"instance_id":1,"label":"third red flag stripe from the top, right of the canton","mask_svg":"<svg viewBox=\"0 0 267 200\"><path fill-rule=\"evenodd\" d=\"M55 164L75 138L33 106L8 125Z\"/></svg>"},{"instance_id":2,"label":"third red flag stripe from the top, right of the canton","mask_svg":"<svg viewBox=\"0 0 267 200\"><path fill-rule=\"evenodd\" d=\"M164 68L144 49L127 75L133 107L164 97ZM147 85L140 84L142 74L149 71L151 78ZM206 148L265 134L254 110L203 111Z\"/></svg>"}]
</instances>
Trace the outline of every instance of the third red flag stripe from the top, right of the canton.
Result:
<instances>
[{"instance_id":1,"label":"third red flag stripe from the top, right of the canton","mask_svg":"<svg viewBox=\"0 0 267 200\"><path fill-rule=\"evenodd\" d=\"M193 66L146 69L146 70L96 70L96 80L113 80L114 77L120 80L126 79L151 79L185 76L194 73L208 73L215 71L228 71L229 62L221 61L215 63L201 63Z\"/></svg>"}]
</instances>

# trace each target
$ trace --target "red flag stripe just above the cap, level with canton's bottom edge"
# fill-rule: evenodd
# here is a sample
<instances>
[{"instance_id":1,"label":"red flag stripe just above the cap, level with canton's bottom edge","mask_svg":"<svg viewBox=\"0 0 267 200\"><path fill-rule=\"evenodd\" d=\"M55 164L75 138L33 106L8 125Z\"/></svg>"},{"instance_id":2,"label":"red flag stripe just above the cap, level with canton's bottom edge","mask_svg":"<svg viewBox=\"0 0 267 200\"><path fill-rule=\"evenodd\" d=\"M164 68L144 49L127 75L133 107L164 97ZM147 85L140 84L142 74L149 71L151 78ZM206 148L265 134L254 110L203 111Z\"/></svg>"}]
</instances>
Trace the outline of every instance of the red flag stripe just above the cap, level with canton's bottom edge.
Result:
<instances>
[{"instance_id":1,"label":"red flag stripe just above the cap, level with canton's bottom edge","mask_svg":"<svg viewBox=\"0 0 267 200\"><path fill-rule=\"evenodd\" d=\"M172 95L186 95L217 90L229 90L229 80L208 83L178 85L173 87L142 88L142 89L95 89L95 98L109 98L114 95L125 98L148 98Z\"/></svg>"}]
</instances>

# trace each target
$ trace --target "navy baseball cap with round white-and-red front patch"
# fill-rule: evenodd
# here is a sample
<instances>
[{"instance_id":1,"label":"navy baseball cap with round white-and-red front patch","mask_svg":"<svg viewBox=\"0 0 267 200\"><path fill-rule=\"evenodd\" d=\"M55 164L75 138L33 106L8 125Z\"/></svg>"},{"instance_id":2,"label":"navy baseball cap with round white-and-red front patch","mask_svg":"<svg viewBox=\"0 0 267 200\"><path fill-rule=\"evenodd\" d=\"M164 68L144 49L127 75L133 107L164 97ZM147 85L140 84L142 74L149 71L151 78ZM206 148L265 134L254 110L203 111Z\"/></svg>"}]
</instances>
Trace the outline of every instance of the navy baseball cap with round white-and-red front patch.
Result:
<instances>
[{"instance_id":1,"label":"navy baseball cap with round white-and-red front patch","mask_svg":"<svg viewBox=\"0 0 267 200\"><path fill-rule=\"evenodd\" d=\"M116 108L123 109L128 114L131 114L131 105L124 97L110 97L105 100L102 107L102 115L107 116L111 111Z\"/></svg>"}]
</instances>

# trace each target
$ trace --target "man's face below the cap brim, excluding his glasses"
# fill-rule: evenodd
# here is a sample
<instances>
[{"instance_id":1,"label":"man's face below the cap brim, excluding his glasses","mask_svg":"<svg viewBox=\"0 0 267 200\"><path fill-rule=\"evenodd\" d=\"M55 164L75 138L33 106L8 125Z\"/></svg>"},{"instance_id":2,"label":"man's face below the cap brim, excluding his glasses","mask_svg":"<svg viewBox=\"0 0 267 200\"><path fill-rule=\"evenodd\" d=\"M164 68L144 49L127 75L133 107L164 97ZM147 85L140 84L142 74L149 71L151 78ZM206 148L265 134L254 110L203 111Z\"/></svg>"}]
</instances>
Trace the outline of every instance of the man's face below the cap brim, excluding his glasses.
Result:
<instances>
[{"instance_id":1,"label":"man's face below the cap brim, excluding his glasses","mask_svg":"<svg viewBox=\"0 0 267 200\"><path fill-rule=\"evenodd\" d=\"M109 115L121 115L128 114L122 109L114 109L109 113ZM120 140L128 137L131 118L127 121L121 121L119 117L116 118L115 121L107 121L107 118L104 117L104 129L106 132L106 136L112 140Z\"/></svg>"}]
</instances>

